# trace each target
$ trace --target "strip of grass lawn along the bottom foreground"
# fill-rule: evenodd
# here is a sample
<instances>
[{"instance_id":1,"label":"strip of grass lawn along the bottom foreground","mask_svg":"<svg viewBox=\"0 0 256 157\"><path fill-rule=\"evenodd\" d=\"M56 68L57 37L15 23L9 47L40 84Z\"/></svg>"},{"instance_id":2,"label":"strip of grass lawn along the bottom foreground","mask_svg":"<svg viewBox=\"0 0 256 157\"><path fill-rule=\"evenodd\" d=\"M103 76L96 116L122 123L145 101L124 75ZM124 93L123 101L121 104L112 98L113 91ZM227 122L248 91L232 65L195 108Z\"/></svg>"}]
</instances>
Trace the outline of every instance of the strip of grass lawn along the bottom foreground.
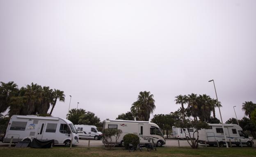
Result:
<instances>
[{"instance_id":1,"label":"strip of grass lawn along the bottom foreground","mask_svg":"<svg viewBox=\"0 0 256 157\"><path fill-rule=\"evenodd\" d=\"M130 153L123 148L53 147L53 148L7 148L0 147L0 157L256 157L256 148L199 148L162 147L148 152L145 148Z\"/></svg>"}]
</instances>

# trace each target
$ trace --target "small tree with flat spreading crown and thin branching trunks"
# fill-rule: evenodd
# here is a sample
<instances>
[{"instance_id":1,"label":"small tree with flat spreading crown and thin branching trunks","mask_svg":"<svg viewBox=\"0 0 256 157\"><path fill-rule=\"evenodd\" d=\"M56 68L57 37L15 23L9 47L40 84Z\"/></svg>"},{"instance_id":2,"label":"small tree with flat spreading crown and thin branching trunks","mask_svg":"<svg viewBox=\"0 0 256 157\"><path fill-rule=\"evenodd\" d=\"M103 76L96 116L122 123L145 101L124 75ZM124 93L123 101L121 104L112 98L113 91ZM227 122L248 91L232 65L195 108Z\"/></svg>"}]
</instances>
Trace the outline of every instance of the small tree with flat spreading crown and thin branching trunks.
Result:
<instances>
[{"instance_id":1,"label":"small tree with flat spreading crown and thin branching trunks","mask_svg":"<svg viewBox=\"0 0 256 157\"><path fill-rule=\"evenodd\" d=\"M194 129L193 136L191 137L190 133L188 133L189 139L187 139L187 143L192 147L192 148L198 148L198 139L199 139L199 129L207 128L208 124L203 121L198 121L198 120L191 120L191 119L181 119L175 123L175 126L178 128L186 128L189 130L190 128ZM186 134L186 132L185 132Z\"/></svg>"}]
</instances>

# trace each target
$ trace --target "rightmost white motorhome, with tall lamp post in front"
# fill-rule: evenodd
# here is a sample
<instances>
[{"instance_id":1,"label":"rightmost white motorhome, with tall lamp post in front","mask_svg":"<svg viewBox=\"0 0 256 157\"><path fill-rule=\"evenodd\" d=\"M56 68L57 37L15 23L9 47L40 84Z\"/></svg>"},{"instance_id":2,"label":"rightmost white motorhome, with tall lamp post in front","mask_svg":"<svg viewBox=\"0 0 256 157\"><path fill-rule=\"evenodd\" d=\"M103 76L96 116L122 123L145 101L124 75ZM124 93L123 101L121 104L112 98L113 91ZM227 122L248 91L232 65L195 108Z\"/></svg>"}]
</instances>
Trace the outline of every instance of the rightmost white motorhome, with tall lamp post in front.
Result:
<instances>
[{"instance_id":1,"label":"rightmost white motorhome, with tall lamp post in front","mask_svg":"<svg viewBox=\"0 0 256 157\"><path fill-rule=\"evenodd\" d=\"M237 146L240 145L240 140L242 144L247 144L247 146L252 146L253 142L248 138L245 133L243 133L242 128L237 124L224 124L224 132L222 124L209 124L208 129L201 129L199 132L199 142L204 144L209 144L210 146L217 145L223 147L225 142L224 132L226 134L226 139L229 144L229 139L231 144Z\"/></svg>"}]
</instances>

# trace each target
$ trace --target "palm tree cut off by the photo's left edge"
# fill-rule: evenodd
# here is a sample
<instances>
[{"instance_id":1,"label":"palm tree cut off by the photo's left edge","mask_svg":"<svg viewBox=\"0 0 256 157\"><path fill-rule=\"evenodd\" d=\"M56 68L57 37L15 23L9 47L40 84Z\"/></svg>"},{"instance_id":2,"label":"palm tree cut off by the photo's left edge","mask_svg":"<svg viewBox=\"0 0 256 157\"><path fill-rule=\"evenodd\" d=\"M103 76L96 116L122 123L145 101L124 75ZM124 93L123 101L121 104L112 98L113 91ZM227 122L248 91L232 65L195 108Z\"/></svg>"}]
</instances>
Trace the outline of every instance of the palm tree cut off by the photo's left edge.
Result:
<instances>
[{"instance_id":1,"label":"palm tree cut off by the photo's left edge","mask_svg":"<svg viewBox=\"0 0 256 157\"><path fill-rule=\"evenodd\" d=\"M18 86L13 81L4 83L0 86L0 113L5 112L10 105L10 99L18 92Z\"/></svg>"}]
</instances>

